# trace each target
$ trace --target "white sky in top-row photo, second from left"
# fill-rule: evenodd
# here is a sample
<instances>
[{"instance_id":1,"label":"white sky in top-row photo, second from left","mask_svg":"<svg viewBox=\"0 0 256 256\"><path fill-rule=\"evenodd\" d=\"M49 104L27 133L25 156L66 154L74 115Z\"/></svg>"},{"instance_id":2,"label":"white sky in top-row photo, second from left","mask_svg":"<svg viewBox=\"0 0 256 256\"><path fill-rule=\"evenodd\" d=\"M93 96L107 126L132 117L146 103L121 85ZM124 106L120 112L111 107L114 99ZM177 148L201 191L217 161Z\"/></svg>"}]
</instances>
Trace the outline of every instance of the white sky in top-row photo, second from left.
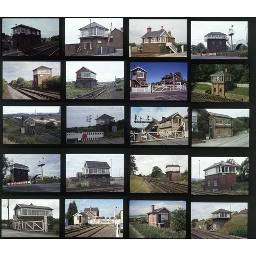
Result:
<instances>
[{"instance_id":1,"label":"white sky in top-row photo, second from left","mask_svg":"<svg viewBox=\"0 0 256 256\"><path fill-rule=\"evenodd\" d=\"M106 12L108 13L108 12ZM65 19L65 44L80 43L80 28L83 28L93 22L110 29L112 23L112 31L123 27L122 18L66 18Z\"/></svg>"}]
</instances>

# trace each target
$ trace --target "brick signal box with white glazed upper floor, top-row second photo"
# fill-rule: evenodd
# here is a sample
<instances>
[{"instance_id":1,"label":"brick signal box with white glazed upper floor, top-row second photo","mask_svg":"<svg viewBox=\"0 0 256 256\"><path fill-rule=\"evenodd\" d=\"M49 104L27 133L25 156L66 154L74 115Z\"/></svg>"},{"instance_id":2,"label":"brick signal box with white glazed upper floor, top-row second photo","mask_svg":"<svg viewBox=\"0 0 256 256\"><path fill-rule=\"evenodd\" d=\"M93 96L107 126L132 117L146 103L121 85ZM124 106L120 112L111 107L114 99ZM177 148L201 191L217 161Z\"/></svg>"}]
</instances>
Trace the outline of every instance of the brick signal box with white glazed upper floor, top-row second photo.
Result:
<instances>
[{"instance_id":1,"label":"brick signal box with white glazed upper floor, top-row second photo","mask_svg":"<svg viewBox=\"0 0 256 256\"><path fill-rule=\"evenodd\" d=\"M79 29L80 54L101 55L116 52L114 42L109 41L109 29L93 22ZM112 35L111 35L112 36Z\"/></svg>"}]
</instances>

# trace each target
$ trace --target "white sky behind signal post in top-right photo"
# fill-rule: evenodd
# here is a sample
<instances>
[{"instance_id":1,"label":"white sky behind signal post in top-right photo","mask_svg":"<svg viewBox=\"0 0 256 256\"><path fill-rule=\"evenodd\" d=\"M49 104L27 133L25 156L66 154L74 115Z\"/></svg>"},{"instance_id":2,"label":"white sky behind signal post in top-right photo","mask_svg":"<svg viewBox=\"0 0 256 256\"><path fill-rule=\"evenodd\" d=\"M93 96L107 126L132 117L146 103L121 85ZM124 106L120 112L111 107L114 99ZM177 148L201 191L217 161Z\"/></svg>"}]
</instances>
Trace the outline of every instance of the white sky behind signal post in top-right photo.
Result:
<instances>
[{"instance_id":1,"label":"white sky behind signal post in top-right photo","mask_svg":"<svg viewBox=\"0 0 256 256\"><path fill-rule=\"evenodd\" d=\"M229 29L231 24L234 25L232 36L233 44L236 44L237 41L248 39L248 22L209 22L209 21L202 21L202 22L191 22L191 45L198 45L199 42L202 42L204 46L207 46L207 42L204 41L204 36L209 34L210 32L221 32L224 34L229 33ZM246 29L246 30L245 30ZM231 44L231 37L230 37L230 44Z\"/></svg>"}]
</instances>

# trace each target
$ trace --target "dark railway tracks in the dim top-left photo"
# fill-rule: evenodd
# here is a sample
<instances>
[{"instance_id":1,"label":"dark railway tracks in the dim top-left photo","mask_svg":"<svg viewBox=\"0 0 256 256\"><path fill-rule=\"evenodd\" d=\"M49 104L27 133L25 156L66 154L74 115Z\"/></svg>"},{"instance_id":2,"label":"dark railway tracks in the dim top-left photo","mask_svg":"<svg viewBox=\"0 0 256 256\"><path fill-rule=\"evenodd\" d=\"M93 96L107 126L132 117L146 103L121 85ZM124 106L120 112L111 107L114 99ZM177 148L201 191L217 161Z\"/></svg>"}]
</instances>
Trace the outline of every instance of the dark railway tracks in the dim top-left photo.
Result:
<instances>
[{"instance_id":1,"label":"dark railway tracks in the dim top-left photo","mask_svg":"<svg viewBox=\"0 0 256 256\"><path fill-rule=\"evenodd\" d=\"M43 46L37 46L32 48L27 48L23 50L26 56L59 56L59 42L54 42L52 44L47 44Z\"/></svg>"}]
</instances>

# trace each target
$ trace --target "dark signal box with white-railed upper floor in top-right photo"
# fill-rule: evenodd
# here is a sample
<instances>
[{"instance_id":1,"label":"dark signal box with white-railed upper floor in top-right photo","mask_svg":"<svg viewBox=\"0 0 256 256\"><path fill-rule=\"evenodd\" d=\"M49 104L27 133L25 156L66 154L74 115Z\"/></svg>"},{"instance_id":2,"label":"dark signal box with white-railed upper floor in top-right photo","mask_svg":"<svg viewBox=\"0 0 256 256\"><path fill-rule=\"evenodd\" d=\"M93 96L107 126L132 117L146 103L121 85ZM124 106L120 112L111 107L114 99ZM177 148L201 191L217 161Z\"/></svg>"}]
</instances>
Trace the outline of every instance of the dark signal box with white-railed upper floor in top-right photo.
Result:
<instances>
[{"instance_id":1,"label":"dark signal box with white-railed upper floor in top-right photo","mask_svg":"<svg viewBox=\"0 0 256 256\"><path fill-rule=\"evenodd\" d=\"M210 32L204 36L207 42L207 53L226 52L226 41L229 37L221 32Z\"/></svg>"}]
</instances>

